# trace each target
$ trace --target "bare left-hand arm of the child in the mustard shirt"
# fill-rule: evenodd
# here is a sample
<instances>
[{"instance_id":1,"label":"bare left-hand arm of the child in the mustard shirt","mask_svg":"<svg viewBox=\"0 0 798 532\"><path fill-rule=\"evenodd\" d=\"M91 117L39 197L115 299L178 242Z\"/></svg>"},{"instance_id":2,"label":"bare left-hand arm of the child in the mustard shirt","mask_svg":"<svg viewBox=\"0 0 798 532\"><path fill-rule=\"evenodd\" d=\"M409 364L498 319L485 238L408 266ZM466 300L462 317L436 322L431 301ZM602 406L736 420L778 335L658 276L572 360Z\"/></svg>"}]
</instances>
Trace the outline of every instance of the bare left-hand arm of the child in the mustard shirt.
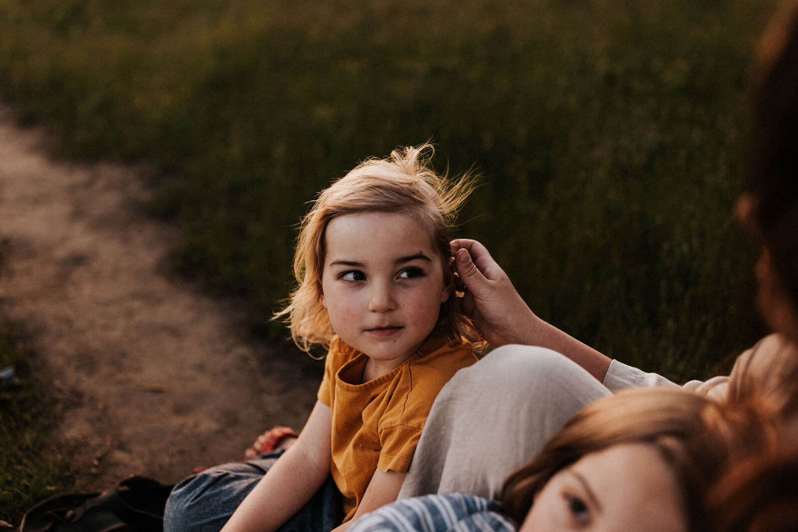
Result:
<instances>
[{"instance_id":1,"label":"bare left-hand arm of the child in the mustard shirt","mask_svg":"<svg viewBox=\"0 0 798 532\"><path fill-rule=\"evenodd\" d=\"M317 401L297 441L241 502L223 532L276 530L296 514L330 475L331 427L330 407Z\"/></svg>"}]
</instances>

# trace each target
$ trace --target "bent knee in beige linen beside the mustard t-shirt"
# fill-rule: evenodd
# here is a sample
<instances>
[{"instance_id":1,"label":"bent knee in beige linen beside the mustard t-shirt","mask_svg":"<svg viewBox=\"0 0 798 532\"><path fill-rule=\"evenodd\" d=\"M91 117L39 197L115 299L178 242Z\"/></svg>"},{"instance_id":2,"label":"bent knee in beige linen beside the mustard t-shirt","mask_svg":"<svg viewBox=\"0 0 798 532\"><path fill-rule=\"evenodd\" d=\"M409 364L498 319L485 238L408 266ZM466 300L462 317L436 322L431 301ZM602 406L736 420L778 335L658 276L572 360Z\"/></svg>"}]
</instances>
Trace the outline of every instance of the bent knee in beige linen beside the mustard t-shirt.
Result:
<instances>
[{"instance_id":1,"label":"bent knee in beige linen beside the mustard t-shirt","mask_svg":"<svg viewBox=\"0 0 798 532\"><path fill-rule=\"evenodd\" d=\"M455 491L497 499L504 479L575 412L610 395L550 349L495 349L440 391L399 499Z\"/></svg>"}]
</instances>

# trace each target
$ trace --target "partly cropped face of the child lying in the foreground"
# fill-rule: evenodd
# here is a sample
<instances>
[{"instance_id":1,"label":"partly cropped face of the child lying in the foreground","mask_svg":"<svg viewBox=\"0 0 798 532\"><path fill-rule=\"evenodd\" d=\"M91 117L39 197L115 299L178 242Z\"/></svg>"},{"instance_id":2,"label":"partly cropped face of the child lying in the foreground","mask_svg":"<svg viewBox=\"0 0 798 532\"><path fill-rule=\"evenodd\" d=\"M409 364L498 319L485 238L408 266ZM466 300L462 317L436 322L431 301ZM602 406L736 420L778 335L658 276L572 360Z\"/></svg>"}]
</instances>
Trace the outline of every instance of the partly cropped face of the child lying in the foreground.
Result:
<instances>
[{"instance_id":1,"label":"partly cropped face of the child lying in the foreground","mask_svg":"<svg viewBox=\"0 0 798 532\"><path fill-rule=\"evenodd\" d=\"M551 477L519 532L684 532L679 499L674 473L654 447L615 445Z\"/></svg>"}]
</instances>

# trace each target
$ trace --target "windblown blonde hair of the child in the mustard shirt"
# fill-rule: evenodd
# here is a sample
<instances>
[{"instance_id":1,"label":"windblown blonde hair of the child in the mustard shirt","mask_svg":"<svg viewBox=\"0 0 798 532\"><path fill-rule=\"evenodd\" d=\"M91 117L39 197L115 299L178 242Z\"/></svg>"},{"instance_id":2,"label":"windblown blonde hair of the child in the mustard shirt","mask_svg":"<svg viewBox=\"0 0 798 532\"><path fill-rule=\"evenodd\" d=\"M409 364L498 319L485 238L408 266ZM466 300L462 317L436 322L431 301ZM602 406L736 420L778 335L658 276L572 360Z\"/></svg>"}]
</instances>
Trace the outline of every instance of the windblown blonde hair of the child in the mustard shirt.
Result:
<instances>
[{"instance_id":1,"label":"windblown blonde hair of the child in the mustard shirt","mask_svg":"<svg viewBox=\"0 0 798 532\"><path fill-rule=\"evenodd\" d=\"M465 173L450 180L446 174L437 175L429 167L433 152L431 144L424 144L394 150L384 160L365 160L318 195L302 219L294 254L298 287L290 295L286 308L275 314L275 318L286 317L299 349L310 351L316 344L329 348L335 334L322 306L322 271L326 228L337 216L367 211L412 212L429 231L433 249L444 266L444 280L452 280L448 268L452 257L449 227L474 189L475 177ZM459 311L455 298L452 293L440 306L435 331L450 341L465 338L476 349L483 348L479 333Z\"/></svg>"}]
</instances>

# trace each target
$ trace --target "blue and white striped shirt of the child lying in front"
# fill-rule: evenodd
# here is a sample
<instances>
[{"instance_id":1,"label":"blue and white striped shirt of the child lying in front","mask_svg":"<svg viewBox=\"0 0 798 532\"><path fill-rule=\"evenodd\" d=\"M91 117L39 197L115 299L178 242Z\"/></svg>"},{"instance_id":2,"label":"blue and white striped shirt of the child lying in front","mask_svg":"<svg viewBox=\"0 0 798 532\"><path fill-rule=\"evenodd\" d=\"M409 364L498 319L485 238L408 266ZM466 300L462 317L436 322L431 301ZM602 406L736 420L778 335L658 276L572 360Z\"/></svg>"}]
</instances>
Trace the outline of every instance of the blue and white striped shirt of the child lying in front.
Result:
<instances>
[{"instance_id":1,"label":"blue and white striped shirt of the child lying in front","mask_svg":"<svg viewBox=\"0 0 798 532\"><path fill-rule=\"evenodd\" d=\"M515 532L494 506L462 493L402 499L365 514L348 532Z\"/></svg>"}]
</instances>

